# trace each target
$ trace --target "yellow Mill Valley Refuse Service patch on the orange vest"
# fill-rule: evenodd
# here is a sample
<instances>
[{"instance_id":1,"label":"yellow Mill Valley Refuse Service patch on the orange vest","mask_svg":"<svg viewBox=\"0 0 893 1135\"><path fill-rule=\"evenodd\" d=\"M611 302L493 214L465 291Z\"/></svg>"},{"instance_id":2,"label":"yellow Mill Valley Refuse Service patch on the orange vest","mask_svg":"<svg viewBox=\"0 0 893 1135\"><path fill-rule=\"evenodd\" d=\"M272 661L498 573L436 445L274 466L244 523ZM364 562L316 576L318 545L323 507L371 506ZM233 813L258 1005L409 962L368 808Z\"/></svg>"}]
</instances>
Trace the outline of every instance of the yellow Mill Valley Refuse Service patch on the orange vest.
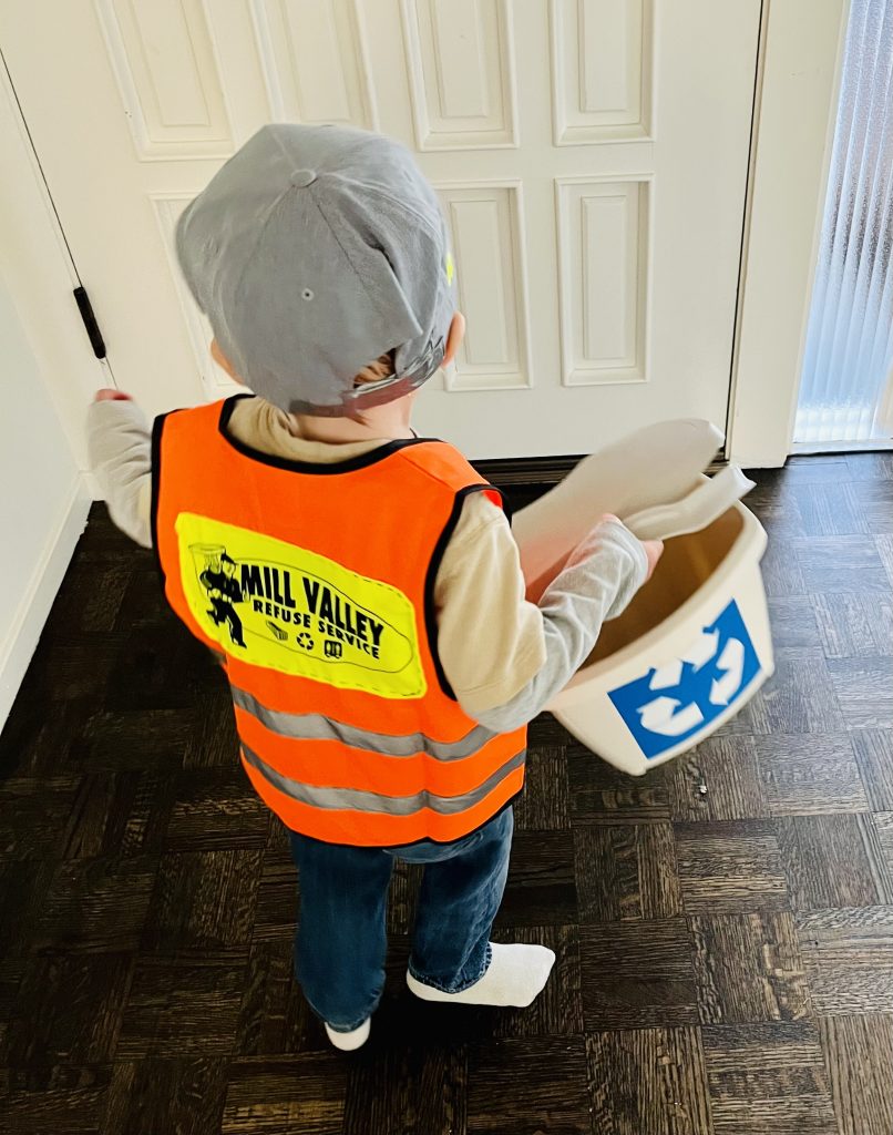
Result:
<instances>
[{"instance_id":1,"label":"yellow Mill Valley Refuse Service patch on the orange vest","mask_svg":"<svg viewBox=\"0 0 893 1135\"><path fill-rule=\"evenodd\" d=\"M231 657L384 698L427 692L415 608L396 587L195 513L176 530L189 611Z\"/></svg>"}]
</instances>

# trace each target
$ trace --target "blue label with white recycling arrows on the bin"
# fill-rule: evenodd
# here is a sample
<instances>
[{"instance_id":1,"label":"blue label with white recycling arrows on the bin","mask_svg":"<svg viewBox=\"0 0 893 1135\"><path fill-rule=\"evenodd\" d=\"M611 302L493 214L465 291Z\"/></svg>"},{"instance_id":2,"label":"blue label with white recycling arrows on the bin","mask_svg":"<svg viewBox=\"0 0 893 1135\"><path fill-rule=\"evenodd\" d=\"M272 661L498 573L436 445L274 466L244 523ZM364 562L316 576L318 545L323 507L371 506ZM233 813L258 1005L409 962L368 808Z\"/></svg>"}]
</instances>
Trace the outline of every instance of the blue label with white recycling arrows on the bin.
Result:
<instances>
[{"instance_id":1,"label":"blue label with white recycling arrows on the bin","mask_svg":"<svg viewBox=\"0 0 893 1135\"><path fill-rule=\"evenodd\" d=\"M688 741L724 713L760 672L734 599L677 658L608 697L646 758Z\"/></svg>"}]
</instances>

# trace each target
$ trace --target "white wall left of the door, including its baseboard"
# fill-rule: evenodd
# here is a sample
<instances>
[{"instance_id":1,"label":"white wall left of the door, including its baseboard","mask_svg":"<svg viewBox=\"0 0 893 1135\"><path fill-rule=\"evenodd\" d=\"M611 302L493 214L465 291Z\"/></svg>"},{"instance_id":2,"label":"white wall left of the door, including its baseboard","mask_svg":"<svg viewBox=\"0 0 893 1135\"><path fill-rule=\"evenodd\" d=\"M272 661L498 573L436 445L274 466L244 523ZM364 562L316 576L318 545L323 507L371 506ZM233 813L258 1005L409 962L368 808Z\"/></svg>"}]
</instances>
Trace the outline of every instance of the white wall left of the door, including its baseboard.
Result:
<instances>
[{"instance_id":1,"label":"white wall left of the door, including its baseboard","mask_svg":"<svg viewBox=\"0 0 893 1135\"><path fill-rule=\"evenodd\" d=\"M110 385L0 60L0 728L84 529L84 413Z\"/></svg>"}]
</instances>

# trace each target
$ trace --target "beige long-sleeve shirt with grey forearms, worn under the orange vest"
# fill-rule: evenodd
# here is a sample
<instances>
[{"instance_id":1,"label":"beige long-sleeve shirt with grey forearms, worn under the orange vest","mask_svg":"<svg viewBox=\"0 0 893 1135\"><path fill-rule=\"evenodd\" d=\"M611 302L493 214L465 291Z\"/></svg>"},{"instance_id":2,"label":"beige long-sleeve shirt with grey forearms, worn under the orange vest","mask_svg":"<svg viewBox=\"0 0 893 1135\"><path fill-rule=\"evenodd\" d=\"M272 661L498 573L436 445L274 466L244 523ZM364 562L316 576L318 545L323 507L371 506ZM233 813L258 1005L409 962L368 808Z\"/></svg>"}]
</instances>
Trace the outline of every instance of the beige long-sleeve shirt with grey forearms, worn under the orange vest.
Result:
<instances>
[{"instance_id":1,"label":"beige long-sleeve shirt with grey forearms, worn under the orange vest","mask_svg":"<svg viewBox=\"0 0 893 1135\"><path fill-rule=\"evenodd\" d=\"M332 445L302 438L293 420L261 398L239 401L229 431L266 455L332 463L387 443ZM134 402L93 403L90 453L112 520L151 546L151 436ZM524 598L517 546L505 514L470 495L444 553L435 586L438 653L462 708L494 730L529 721L591 650L645 580L639 541L621 523L599 526L539 605ZM487 625L469 649L467 628Z\"/></svg>"}]
</instances>

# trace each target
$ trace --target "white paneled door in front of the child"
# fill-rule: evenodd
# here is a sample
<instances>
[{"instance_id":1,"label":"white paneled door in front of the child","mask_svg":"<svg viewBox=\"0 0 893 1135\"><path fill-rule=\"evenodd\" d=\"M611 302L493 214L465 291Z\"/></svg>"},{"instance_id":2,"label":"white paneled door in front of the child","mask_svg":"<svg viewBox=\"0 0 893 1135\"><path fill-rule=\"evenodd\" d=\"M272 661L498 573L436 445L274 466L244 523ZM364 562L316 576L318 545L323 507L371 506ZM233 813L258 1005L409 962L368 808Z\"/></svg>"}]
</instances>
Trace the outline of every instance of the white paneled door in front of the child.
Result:
<instances>
[{"instance_id":1,"label":"white paneled door in front of the child","mask_svg":"<svg viewBox=\"0 0 893 1135\"><path fill-rule=\"evenodd\" d=\"M3 0L0 47L118 385L219 397L184 204L259 126L406 142L467 339L419 424L475 457L723 426L761 0ZM59 297L60 303L69 297Z\"/></svg>"}]
</instances>

